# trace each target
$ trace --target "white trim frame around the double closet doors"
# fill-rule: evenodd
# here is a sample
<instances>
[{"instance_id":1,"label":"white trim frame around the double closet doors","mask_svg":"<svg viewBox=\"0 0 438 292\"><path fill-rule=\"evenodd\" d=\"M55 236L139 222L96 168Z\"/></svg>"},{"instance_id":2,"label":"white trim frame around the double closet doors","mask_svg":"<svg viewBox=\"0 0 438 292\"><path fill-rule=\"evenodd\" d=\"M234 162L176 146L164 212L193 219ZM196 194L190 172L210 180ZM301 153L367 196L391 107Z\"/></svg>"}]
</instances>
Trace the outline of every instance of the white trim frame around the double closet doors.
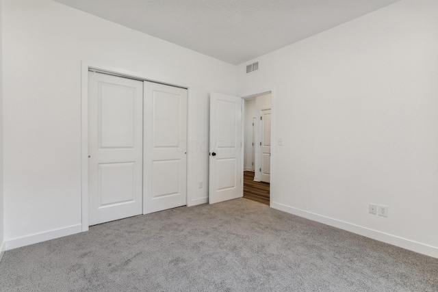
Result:
<instances>
[{"instance_id":1,"label":"white trim frame around the double closet doors","mask_svg":"<svg viewBox=\"0 0 438 292\"><path fill-rule=\"evenodd\" d=\"M89 218L88 218L88 72L89 70L96 70L102 73L110 75L116 75L119 77L125 77L129 79L138 79L139 81L149 81L154 83L161 83L164 85L175 86L178 88L187 89L187 137L186 143L190 145L193 137L193 122L190 119L190 88L193 88L187 84L181 84L180 81L173 79L167 79L162 76L153 75L151 72L139 73L129 70L123 70L120 68L114 68L103 64L96 64L95 62L88 62L81 60L81 226L82 231L88 231ZM192 165L193 155L187 151L187 165L186 165L186 203L187 206L192 206Z\"/></svg>"}]
</instances>

